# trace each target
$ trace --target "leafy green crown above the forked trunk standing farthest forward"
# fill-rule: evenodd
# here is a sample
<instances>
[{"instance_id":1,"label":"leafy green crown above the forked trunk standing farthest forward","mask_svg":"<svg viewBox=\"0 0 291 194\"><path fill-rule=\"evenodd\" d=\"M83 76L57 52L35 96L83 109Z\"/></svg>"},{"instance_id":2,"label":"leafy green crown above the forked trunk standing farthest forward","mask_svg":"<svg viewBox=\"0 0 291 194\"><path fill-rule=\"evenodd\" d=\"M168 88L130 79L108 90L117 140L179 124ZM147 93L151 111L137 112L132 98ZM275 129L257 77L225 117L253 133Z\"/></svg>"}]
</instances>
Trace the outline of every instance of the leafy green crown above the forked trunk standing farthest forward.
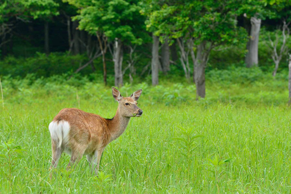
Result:
<instances>
[{"instance_id":1,"label":"leafy green crown above the forked trunk standing farthest forward","mask_svg":"<svg viewBox=\"0 0 291 194\"><path fill-rule=\"evenodd\" d=\"M161 2L159 9L148 13L147 29L169 38L190 34L196 44L235 44L246 38L245 31L237 27L237 6L236 0Z\"/></svg>"}]
</instances>

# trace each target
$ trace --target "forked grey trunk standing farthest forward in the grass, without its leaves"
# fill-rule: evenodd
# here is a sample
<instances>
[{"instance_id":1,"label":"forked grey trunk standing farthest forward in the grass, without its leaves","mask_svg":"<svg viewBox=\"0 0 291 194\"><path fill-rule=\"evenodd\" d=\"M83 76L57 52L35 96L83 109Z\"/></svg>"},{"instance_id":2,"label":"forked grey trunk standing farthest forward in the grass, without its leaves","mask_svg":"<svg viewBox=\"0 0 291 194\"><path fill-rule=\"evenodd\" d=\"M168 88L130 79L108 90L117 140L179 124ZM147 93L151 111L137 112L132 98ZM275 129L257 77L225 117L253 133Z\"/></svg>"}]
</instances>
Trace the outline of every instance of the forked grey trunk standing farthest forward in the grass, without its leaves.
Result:
<instances>
[{"instance_id":1,"label":"forked grey trunk standing farthest forward in the grass, without its leaves","mask_svg":"<svg viewBox=\"0 0 291 194\"><path fill-rule=\"evenodd\" d=\"M197 47L197 56L194 64L194 79L196 84L196 99L205 97L205 68L209 58L210 49L206 50L206 42Z\"/></svg>"}]
</instances>

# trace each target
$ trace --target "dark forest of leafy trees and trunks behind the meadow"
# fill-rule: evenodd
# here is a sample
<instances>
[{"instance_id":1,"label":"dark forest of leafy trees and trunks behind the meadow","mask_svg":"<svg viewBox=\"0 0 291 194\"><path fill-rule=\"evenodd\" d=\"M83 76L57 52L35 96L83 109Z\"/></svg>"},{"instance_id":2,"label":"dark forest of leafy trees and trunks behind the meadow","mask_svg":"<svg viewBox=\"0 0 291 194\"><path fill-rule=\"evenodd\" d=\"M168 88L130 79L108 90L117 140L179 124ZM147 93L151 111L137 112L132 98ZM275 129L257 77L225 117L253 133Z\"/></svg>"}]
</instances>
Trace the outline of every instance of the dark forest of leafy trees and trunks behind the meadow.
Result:
<instances>
[{"instance_id":1,"label":"dark forest of leafy trees and trunks behind the meadow","mask_svg":"<svg viewBox=\"0 0 291 194\"><path fill-rule=\"evenodd\" d=\"M122 86L179 75L203 98L209 70L275 77L290 58L288 0L4 0L0 10L2 76L95 72Z\"/></svg>"}]
</instances>

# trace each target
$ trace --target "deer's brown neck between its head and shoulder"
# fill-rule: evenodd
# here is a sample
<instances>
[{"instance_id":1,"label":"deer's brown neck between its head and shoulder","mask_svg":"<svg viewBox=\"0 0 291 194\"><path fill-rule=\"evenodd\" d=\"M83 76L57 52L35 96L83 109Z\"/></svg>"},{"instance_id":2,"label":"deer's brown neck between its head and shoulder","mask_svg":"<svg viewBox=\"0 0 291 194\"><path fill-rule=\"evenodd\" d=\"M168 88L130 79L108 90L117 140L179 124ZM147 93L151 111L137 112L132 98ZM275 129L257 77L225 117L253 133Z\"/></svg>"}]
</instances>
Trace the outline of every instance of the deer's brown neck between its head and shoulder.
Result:
<instances>
[{"instance_id":1,"label":"deer's brown neck between its head and shoulder","mask_svg":"<svg viewBox=\"0 0 291 194\"><path fill-rule=\"evenodd\" d=\"M120 115L119 109L110 120L108 120L108 129L111 135L110 142L118 138L127 128L130 117Z\"/></svg>"}]
</instances>

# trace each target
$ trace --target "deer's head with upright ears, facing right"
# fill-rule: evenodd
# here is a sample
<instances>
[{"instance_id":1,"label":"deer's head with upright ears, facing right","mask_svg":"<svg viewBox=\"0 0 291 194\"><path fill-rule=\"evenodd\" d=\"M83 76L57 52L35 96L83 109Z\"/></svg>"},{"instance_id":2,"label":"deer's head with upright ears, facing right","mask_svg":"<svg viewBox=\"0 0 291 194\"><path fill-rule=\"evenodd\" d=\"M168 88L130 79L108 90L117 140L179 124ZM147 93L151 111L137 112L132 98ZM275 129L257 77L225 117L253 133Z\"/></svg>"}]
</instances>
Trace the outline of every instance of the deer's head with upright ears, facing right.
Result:
<instances>
[{"instance_id":1,"label":"deer's head with upright ears, facing right","mask_svg":"<svg viewBox=\"0 0 291 194\"><path fill-rule=\"evenodd\" d=\"M120 92L112 87L112 95L118 101L118 110L125 117L140 117L143 111L137 106L137 100L141 96L143 90L137 90L130 97L122 97Z\"/></svg>"}]
</instances>

